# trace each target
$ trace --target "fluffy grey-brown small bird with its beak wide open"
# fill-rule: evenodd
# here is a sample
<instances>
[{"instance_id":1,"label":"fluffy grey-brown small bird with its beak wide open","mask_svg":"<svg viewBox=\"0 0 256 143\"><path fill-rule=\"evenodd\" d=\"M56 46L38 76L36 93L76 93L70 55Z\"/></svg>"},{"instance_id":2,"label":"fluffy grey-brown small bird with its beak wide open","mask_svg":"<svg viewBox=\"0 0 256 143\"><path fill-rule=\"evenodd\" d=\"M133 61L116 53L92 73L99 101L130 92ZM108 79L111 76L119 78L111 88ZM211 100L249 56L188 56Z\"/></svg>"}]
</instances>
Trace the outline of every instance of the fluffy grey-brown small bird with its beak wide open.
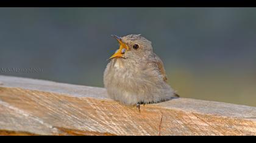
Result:
<instances>
[{"instance_id":1,"label":"fluffy grey-brown small bird with its beak wide open","mask_svg":"<svg viewBox=\"0 0 256 143\"><path fill-rule=\"evenodd\" d=\"M154 104L179 98L167 82L162 60L152 43L141 35L112 35L119 48L108 59L104 87L109 98L124 105Z\"/></svg>"}]
</instances>

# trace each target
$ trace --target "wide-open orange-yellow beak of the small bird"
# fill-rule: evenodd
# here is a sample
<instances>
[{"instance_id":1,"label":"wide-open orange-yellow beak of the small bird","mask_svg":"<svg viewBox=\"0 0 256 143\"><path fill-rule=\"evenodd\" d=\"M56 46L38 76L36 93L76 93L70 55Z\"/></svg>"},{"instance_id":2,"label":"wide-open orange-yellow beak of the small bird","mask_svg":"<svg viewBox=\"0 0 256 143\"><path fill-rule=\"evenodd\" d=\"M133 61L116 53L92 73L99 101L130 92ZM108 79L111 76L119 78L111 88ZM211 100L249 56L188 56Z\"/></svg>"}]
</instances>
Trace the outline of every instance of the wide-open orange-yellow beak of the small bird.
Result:
<instances>
[{"instance_id":1,"label":"wide-open orange-yellow beak of the small bird","mask_svg":"<svg viewBox=\"0 0 256 143\"><path fill-rule=\"evenodd\" d=\"M129 50L129 47L122 41L122 39L116 35L111 35L113 38L115 38L118 43L119 43L119 49L116 50L116 52L109 58L109 59L112 59L112 58L121 58L124 53L126 52L126 50Z\"/></svg>"}]
</instances>

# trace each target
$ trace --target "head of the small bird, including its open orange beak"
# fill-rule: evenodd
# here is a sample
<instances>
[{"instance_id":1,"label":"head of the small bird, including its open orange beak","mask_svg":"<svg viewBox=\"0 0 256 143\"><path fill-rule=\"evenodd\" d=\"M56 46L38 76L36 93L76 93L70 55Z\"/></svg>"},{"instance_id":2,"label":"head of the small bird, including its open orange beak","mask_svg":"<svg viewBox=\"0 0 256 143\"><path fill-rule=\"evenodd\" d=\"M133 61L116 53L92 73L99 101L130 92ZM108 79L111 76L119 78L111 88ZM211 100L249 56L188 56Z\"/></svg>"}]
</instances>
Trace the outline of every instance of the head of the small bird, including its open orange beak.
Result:
<instances>
[{"instance_id":1,"label":"head of the small bird, including its open orange beak","mask_svg":"<svg viewBox=\"0 0 256 143\"><path fill-rule=\"evenodd\" d=\"M140 57L152 52L151 41L141 35L112 36L118 41L119 48L109 59Z\"/></svg>"}]
</instances>

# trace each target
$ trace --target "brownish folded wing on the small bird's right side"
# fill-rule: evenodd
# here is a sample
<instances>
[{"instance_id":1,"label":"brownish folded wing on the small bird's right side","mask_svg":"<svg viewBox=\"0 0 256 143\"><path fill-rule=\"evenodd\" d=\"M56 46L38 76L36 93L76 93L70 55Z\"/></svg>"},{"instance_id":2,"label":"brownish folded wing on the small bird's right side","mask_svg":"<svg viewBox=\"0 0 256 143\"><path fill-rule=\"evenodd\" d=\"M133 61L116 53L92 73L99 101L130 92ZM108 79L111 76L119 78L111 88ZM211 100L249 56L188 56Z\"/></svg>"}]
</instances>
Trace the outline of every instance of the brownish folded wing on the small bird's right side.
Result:
<instances>
[{"instance_id":1,"label":"brownish folded wing on the small bird's right side","mask_svg":"<svg viewBox=\"0 0 256 143\"><path fill-rule=\"evenodd\" d=\"M154 53L152 55L152 58L150 58L149 64L156 68L162 75L163 75L163 81L167 82L167 76L165 73L165 67L163 67L163 62L162 60Z\"/></svg>"}]
</instances>

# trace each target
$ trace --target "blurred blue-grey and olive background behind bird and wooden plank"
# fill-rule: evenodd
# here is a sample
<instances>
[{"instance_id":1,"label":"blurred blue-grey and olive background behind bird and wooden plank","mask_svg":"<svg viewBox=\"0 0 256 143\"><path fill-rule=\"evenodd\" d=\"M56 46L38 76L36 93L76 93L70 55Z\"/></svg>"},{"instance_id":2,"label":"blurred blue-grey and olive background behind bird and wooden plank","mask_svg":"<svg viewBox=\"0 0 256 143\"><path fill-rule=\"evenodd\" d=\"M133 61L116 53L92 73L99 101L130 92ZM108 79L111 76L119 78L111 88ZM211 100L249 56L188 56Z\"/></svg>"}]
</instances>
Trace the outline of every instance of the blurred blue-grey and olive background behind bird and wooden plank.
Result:
<instances>
[{"instance_id":1,"label":"blurred blue-grey and olive background behind bird and wooden plank","mask_svg":"<svg viewBox=\"0 0 256 143\"><path fill-rule=\"evenodd\" d=\"M1 75L103 87L110 35L142 34L184 98L256 106L256 8L0 8Z\"/></svg>"}]
</instances>

